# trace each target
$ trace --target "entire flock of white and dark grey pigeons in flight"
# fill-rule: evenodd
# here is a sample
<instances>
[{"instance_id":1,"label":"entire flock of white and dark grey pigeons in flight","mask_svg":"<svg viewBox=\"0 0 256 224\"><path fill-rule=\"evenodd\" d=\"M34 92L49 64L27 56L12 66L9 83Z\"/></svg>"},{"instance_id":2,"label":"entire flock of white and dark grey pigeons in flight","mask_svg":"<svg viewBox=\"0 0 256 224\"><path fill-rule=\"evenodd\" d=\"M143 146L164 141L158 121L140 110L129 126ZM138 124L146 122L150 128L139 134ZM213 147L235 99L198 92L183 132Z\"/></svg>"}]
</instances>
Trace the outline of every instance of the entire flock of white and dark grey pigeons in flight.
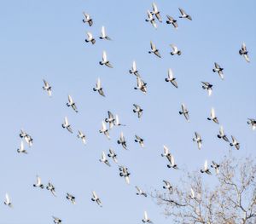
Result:
<instances>
[{"instance_id":1,"label":"entire flock of white and dark grey pigeons in flight","mask_svg":"<svg viewBox=\"0 0 256 224\"><path fill-rule=\"evenodd\" d=\"M154 26L154 28L157 28L157 21L162 22L162 19L161 19L160 11L157 8L157 5L155 3L153 3L152 7L153 7L152 11L150 11L150 10L147 11L148 18L146 19L146 22L149 22L152 26ZM179 9L179 11L180 11L180 14L181 14L179 16L180 19L192 20L192 17L189 14L187 14L183 9ZM84 14L84 20L83 20L84 24L88 24L89 26L93 26L93 20L92 20L90 14L86 14L86 13L83 13L83 14ZM170 16L168 14L166 15L166 17L167 17L166 24L167 25L172 25L175 29L177 29L177 27L178 27L177 20L173 19L172 16ZM85 39L86 43L91 43L91 44L96 43L96 39L93 37L91 32L87 32L87 36L88 37ZM106 28L104 26L102 26L102 35L99 38L102 39L102 40L107 40L107 41L111 40L111 38L108 37L108 35L106 33ZM171 44L171 47L172 47L172 52L170 53L171 55L181 55L182 54L182 52L177 48L176 45ZM159 58L161 57L160 50L156 48L154 43L150 42L150 48L151 49L148 51L149 54L156 55ZM239 54L242 55L247 62L250 61L249 57L248 57L248 51L247 51L247 47L246 47L245 43L242 43L241 49L239 50ZM99 61L99 64L101 66L108 66L109 68L113 68L112 64L108 60L108 56L107 56L106 51L103 51L102 60ZM129 72L137 78L137 87L135 87L134 89L141 90L144 94L146 94L147 93L147 83L145 83L143 81L143 78L140 76L140 74L137 70L136 61L132 62L132 66L131 66L131 69L129 70ZM216 63L216 62L214 63L214 67L212 68L212 72L217 72L219 78L221 78L222 80L224 79L224 68L222 66L219 66L218 63ZM165 81L172 83L172 85L175 88L178 88L177 80L176 80L176 78L174 78L174 75L173 75L173 72L172 72L171 68L168 70L168 75L167 75L167 78L165 79ZM208 82L201 82L201 83L202 83L202 89L206 89L207 94L209 96L211 96L212 95L212 83L208 83ZM44 80L43 89L47 92L47 94L49 96L52 95L52 87L46 80ZM96 91L96 92L99 93L99 95L102 95L103 97L105 97L105 94L104 94L103 89L102 89L102 83L101 83L100 78L97 79L96 87L93 88L93 91ZM72 98L71 95L68 95L67 106L71 107L74 112L79 112L78 107L76 105L76 102L73 101L73 98ZM137 104L133 104L133 106L134 106L133 112L137 113L137 118L142 118L143 108L141 106L138 106ZM181 111L179 111L179 114L183 115L183 117L189 122L189 110L184 104L181 105ZM216 113L215 113L215 110L214 110L213 107L211 109L210 116L209 116L209 118L207 118L207 120L212 121L213 123L219 124L218 117L216 116ZM252 129L256 129L256 120L255 119L248 118L247 123L251 126ZM62 126L63 129L67 129L67 131L70 132L71 134L73 133L73 128L72 128L71 124L68 122L67 117L64 118L64 123L62 123L61 126ZM111 129L113 129L114 126L125 126L125 124L119 122L119 116L118 115L114 116L112 112L108 111L108 118L104 118L102 120L102 127L99 130L99 132L101 134L105 135L108 140L110 140L109 132L110 132ZM223 126L220 126L219 133L218 133L217 136L218 136L219 139L223 139L224 141L228 142L230 144L230 146L236 147L237 150L240 149L240 143L236 140L236 137L231 135L231 140L232 141L230 141L228 136L225 135L225 133L224 133ZM84 135L84 133L81 130L78 130L77 137L79 139L81 139L83 144L86 144L86 135ZM25 142L29 147L31 147L32 143L33 143L32 136L27 134L25 130L21 129L20 130L20 138L21 138L20 147L17 149L17 152L27 154ZM135 140L134 141L136 141L141 147L144 147L144 141L143 141L142 137L140 137L138 135L135 135ZM202 141L201 135L198 132L195 132L195 137L193 138L193 141L196 142L197 147L200 150L201 147L202 147L202 142L203 141ZM125 150L127 149L127 145L126 145L126 141L125 141L125 135L123 134L123 132L120 133L119 140L117 141L117 143L120 146L122 146ZM164 152L161 154L161 156L165 157L167 159L167 162L168 162L167 167L168 168L178 169L178 166L175 163L174 156L169 151L167 146L164 146ZM99 158L99 161L102 164L106 164L108 166L111 166L110 161L108 160L108 158L113 159L113 162L115 164L118 164L117 154L112 149L109 149L108 153L102 152L102 156L101 156L101 158ZM212 164L209 166L208 163L207 163L207 160L205 161L205 163L203 165L203 168L200 170L201 173L205 173L207 175L212 175L210 167L215 170L216 174L218 174L219 164L212 161ZM131 175L131 173L129 172L129 169L126 166L119 165L119 176L124 177L125 182L127 184L130 183L130 175ZM169 181L166 181L166 180L164 180L163 182L165 184L163 186L163 188L172 193L171 183ZM38 187L38 188L41 188L41 189L46 188L49 192L52 193L53 196L56 197L55 186L53 185L53 183L49 182L48 185L45 187L39 176L37 176L36 182L35 182L35 184L33 184L33 187ZM144 192L143 189L141 189L140 187L137 187L137 186L136 186L136 189L137 189L137 195L147 197L148 194L147 194L147 192ZM66 198L72 204L76 204L76 198L75 198L75 196L73 196L73 194L67 192ZM196 199L195 192L192 188L191 188L191 198ZM102 207L101 198L99 198L97 196L95 191L92 192L91 200L93 202L96 202L96 204L98 204L99 206ZM13 204L12 204L10 198L9 198L8 193L6 193L6 195L5 195L4 204L8 205L9 207L13 207ZM58 218L58 217L52 216L52 218L53 218L53 221L56 224L62 222L61 219ZM147 211L144 211L142 221L152 223L152 221L148 218Z\"/></svg>"}]
</instances>

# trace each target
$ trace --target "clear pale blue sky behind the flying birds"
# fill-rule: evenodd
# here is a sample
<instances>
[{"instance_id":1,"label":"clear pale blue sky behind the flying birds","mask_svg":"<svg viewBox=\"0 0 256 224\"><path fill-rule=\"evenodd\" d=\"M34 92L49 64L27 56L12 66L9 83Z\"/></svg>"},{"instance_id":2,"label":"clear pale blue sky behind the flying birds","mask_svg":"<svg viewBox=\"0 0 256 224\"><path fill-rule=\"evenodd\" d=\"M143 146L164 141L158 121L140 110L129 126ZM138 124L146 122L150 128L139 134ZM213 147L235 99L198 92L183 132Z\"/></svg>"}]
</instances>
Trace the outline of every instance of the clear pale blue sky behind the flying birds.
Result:
<instances>
[{"instance_id":1,"label":"clear pale blue sky behind the flying birds","mask_svg":"<svg viewBox=\"0 0 256 224\"><path fill-rule=\"evenodd\" d=\"M216 162L230 150L236 157L255 156L256 131L247 118L256 118L256 2L184 1L157 2L163 23L155 30L145 21L151 1L10 0L0 2L1 163L0 199L9 193L13 209L0 203L1 224L53 223L55 215L63 223L141 223L147 210L154 223L170 223L163 209L150 197L136 195L135 186L146 192L161 190L163 180L177 185L181 170L167 169L160 154L169 147L180 169L200 170L205 159ZM178 19L178 8L192 21ZM91 15L93 26L84 24L82 12ZM177 19L178 29L166 25L166 14ZM112 41L100 40L105 26ZM85 43L92 32L96 44ZM162 58L149 55L150 41ZM247 44L251 62L239 54ZM175 43L182 55L170 55ZM100 66L106 50L113 69ZM148 93L135 90L136 77L129 73L132 61L147 83ZM212 72L214 62L224 67L224 80ZM178 88L166 83L168 68L177 78ZM43 78L53 89L48 97ZM94 92L101 78L106 97ZM212 96L201 81L213 84ZM67 107L72 95L79 112ZM143 107L143 117L132 112L133 104ZM189 109L190 122L178 114L181 104ZM207 120L211 107L230 137L241 143L240 151L218 140L219 126ZM111 140L99 133L108 111L118 114L126 126L114 127ZM73 135L61 128L67 116ZM32 135L27 155L17 153L20 129ZM81 129L87 144L77 138ZM128 150L117 144L123 131ZM201 151L192 141L201 134ZM145 148L135 141L143 137ZM102 151L112 148L120 165L131 172L131 184L119 176L118 165L99 162ZM51 181L57 197L32 187L36 175L45 184ZM214 175L204 181L214 181ZM93 203L95 190L103 207ZM189 189L188 189L189 191ZM77 200L73 205L66 193Z\"/></svg>"}]
</instances>

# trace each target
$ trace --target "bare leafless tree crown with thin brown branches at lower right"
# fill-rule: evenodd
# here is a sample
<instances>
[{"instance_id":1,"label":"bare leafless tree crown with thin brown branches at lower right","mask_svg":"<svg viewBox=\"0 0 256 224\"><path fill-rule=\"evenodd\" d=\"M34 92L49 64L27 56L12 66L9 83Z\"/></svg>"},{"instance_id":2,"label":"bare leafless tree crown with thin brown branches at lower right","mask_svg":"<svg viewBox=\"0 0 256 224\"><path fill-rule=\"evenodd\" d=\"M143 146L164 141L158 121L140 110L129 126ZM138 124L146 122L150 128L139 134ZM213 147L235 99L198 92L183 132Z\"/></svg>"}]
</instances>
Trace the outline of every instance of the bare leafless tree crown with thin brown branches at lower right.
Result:
<instances>
[{"instance_id":1,"label":"bare leafless tree crown with thin brown branches at lower right","mask_svg":"<svg viewBox=\"0 0 256 224\"><path fill-rule=\"evenodd\" d=\"M184 173L172 192L155 190L151 196L174 223L255 224L256 161L229 154L218 169L216 178L199 170Z\"/></svg>"}]
</instances>

